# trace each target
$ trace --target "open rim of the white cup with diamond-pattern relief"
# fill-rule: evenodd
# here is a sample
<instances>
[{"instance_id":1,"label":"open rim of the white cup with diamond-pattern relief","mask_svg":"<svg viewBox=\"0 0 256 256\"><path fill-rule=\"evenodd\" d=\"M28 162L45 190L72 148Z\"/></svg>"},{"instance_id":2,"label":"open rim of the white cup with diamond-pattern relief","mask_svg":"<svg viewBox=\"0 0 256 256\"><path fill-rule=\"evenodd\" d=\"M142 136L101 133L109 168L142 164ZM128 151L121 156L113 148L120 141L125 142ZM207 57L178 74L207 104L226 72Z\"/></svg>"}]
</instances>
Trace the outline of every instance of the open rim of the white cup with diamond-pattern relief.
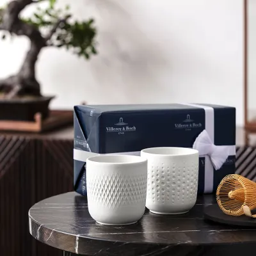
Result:
<instances>
[{"instance_id":1,"label":"open rim of the white cup with diamond-pattern relief","mask_svg":"<svg viewBox=\"0 0 256 256\"><path fill-rule=\"evenodd\" d=\"M103 160L103 161L100 161ZM105 159L105 160L104 160ZM131 159L129 161L111 161L111 159ZM145 163L147 159L141 156L133 156L133 155L118 155L118 154L109 154L109 155L101 155L101 156L92 156L88 157L86 162L92 162L95 164L138 164Z\"/></svg>"}]
</instances>

